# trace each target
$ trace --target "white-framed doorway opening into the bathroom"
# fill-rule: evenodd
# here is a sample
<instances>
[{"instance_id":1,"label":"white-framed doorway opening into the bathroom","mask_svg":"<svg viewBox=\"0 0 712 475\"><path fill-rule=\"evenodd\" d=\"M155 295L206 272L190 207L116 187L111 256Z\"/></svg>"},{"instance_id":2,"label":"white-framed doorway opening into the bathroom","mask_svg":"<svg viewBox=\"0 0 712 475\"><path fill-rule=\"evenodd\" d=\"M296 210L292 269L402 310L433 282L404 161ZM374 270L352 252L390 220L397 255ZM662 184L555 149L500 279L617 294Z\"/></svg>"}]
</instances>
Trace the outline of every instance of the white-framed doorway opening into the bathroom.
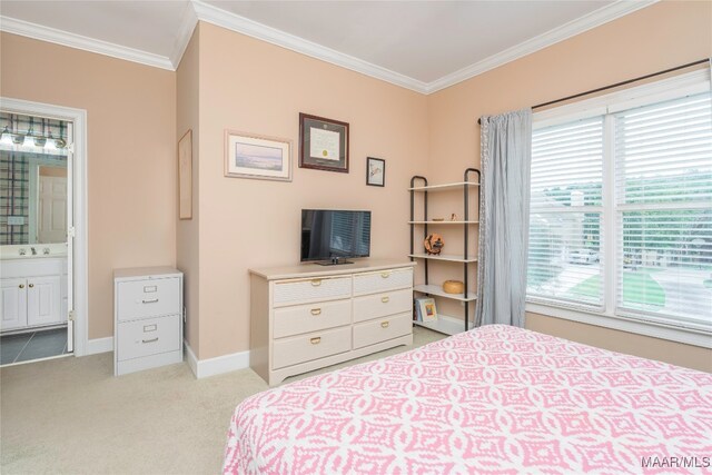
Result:
<instances>
[{"instance_id":1,"label":"white-framed doorway opening into the bathroom","mask_svg":"<svg viewBox=\"0 0 712 475\"><path fill-rule=\"evenodd\" d=\"M87 343L86 112L0 99L0 364Z\"/></svg>"}]
</instances>

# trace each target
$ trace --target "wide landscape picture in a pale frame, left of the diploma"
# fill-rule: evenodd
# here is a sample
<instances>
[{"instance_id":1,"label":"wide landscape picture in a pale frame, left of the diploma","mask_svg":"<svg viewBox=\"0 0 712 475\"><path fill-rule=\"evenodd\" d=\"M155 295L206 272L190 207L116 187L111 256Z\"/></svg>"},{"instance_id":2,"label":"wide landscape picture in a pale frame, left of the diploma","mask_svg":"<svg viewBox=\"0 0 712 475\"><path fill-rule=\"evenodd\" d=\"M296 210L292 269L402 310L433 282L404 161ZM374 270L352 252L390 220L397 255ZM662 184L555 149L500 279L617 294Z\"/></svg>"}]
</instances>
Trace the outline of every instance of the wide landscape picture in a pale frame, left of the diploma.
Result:
<instances>
[{"instance_id":1,"label":"wide landscape picture in a pale frame, left of the diploma","mask_svg":"<svg viewBox=\"0 0 712 475\"><path fill-rule=\"evenodd\" d=\"M225 176L291 181L291 140L226 130Z\"/></svg>"}]
</instances>

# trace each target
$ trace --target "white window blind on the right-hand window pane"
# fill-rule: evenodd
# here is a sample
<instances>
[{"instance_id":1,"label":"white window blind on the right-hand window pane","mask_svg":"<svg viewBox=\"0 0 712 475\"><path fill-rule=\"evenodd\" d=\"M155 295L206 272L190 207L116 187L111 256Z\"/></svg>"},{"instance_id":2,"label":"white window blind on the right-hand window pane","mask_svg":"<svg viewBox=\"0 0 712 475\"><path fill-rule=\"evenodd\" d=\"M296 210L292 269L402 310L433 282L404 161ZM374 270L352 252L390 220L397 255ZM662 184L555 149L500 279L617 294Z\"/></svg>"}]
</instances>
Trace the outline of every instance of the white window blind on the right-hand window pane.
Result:
<instances>
[{"instance_id":1,"label":"white window blind on the right-hand window pane","mask_svg":"<svg viewBox=\"0 0 712 475\"><path fill-rule=\"evenodd\" d=\"M712 326L710 93L615 122L616 313Z\"/></svg>"}]
</instances>

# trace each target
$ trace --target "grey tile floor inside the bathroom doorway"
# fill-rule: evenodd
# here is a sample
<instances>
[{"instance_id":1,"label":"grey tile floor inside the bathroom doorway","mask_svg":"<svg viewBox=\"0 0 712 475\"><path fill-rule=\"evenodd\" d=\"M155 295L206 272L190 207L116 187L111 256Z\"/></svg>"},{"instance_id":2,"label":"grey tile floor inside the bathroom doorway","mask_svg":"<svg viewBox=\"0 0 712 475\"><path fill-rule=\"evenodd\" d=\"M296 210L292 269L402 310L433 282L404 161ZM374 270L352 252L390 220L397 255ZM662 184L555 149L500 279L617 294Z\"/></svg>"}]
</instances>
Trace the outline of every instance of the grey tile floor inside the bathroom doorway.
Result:
<instances>
[{"instance_id":1,"label":"grey tile floor inside the bathroom doorway","mask_svg":"<svg viewBox=\"0 0 712 475\"><path fill-rule=\"evenodd\" d=\"M0 365L48 358L67 353L66 328L0 337Z\"/></svg>"}]
</instances>

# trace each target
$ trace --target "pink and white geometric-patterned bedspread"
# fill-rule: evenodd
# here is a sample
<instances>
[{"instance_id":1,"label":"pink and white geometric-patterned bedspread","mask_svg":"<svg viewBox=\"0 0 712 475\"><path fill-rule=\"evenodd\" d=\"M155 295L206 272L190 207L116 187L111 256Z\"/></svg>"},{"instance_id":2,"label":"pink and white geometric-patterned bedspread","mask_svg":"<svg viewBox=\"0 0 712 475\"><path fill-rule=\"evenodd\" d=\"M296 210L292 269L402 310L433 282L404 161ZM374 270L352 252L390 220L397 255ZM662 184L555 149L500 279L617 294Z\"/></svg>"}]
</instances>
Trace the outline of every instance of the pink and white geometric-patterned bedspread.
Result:
<instances>
[{"instance_id":1,"label":"pink and white geometric-patterned bedspread","mask_svg":"<svg viewBox=\"0 0 712 475\"><path fill-rule=\"evenodd\" d=\"M507 326L243 402L225 473L712 473L712 375Z\"/></svg>"}]
</instances>

